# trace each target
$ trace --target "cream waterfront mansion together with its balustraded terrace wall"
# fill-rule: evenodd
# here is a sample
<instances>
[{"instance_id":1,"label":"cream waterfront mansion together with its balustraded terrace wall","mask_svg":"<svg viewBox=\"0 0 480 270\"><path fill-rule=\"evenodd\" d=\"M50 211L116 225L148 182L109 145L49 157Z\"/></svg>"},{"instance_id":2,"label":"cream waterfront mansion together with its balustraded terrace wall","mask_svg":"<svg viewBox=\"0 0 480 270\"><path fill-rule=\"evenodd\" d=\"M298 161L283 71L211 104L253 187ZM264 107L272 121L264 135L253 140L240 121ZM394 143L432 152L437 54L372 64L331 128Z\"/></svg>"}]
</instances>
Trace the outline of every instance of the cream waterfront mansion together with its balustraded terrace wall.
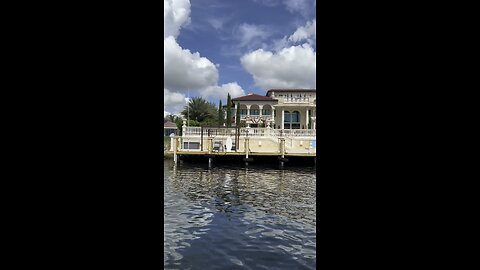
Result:
<instances>
[{"instance_id":1,"label":"cream waterfront mansion together with its balustraded terrace wall","mask_svg":"<svg viewBox=\"0 0 480 270\"><path fill-rule=\"evenodd\" d=\"M247 158L315 156L316 105L315 89L270 89L264 96L250 93L237 97L232 99L235 124L231 128L187 127L184 120L182 135L171 137L169 151L192 155L234 151ZM236 108L240 109L240 119L235 119Z\"/></svg>"}]
</instances>

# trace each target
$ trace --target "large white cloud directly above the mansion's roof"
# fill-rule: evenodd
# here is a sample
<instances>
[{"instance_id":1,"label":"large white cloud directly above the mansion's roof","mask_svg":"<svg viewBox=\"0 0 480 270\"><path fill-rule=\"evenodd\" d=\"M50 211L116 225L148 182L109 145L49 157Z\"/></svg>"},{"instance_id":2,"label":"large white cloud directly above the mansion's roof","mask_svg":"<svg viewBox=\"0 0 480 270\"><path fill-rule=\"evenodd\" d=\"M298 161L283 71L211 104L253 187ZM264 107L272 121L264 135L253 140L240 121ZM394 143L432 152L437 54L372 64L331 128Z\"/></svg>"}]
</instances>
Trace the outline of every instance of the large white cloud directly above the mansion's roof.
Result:
<instances>
[{"instance_id":1,"label":"large white cloud directly above the mansion's roof","mask_svg":"<svg viewBox=\"0 0 480 270\"><path fill-rule=\"evenodd\" d=\"M309 44L272 53L263 49L244 55L242 66L255 84L269 88L316 88L316 52Z\"/></svg>"}]
</instances>

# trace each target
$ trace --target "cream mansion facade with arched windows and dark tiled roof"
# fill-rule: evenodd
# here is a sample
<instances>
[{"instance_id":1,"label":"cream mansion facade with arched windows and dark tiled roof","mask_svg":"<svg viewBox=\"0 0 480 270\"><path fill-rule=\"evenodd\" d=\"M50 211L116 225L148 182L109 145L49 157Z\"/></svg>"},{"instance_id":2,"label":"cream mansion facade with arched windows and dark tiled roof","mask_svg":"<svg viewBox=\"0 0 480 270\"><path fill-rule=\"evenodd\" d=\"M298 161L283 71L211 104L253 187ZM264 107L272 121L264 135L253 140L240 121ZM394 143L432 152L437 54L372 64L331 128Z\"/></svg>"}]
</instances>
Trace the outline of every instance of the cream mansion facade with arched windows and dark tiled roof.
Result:
<instances>
[{"instance_id":1,"label":"cream mansion facade with arched windows and dark tiled roof","mask_svg":"<svg viewBox=\"0 0 480 270\"><path fill-rule=\"evenodd\" d=\"M270 89L265 96L250 93L232 99L240 105L240 120L247 127L316 129L316 89ZM238 123L235 111L234 122Z\"/></svg>"}]
</instances>

